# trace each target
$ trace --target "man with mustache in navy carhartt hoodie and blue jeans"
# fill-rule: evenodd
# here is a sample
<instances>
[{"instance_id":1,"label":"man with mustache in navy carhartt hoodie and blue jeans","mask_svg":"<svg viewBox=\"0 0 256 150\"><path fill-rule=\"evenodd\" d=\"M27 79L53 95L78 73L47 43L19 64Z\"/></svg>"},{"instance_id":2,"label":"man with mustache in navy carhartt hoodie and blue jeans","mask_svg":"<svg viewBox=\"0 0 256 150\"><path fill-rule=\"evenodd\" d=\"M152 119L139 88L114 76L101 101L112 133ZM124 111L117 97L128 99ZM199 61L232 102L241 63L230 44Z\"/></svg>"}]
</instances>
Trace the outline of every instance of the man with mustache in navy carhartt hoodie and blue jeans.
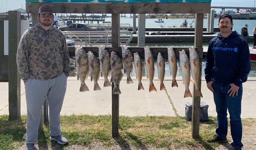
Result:
<instances>
[{"instance_id":1,"label":"man with mustache in navy carhartt hoodie and blue jeans","mask_svg":"<svg viewBox=\"0 0 256 150\"><path fill-rule=\"evenodd\" d=\"M216 135L208 142L226 143L228 132L227 110L234 150L241 150L242 121L241 103L243 82L251 70L247 41L236 31L232 31L233 20L229 14L219 18L220 33L209 42L206 54L205 80L213 93L217 112Z\"/></svg>"}]
</instances>

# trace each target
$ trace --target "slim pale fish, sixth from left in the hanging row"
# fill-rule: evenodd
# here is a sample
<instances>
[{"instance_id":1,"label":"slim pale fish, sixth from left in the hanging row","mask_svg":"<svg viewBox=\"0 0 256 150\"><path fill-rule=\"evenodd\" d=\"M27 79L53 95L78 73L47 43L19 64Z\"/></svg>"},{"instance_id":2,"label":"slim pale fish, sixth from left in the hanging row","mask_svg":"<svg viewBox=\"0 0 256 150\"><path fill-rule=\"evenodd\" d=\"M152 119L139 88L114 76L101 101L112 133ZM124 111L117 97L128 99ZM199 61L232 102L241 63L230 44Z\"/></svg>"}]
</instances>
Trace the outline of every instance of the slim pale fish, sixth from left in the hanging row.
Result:
<instances>
[{"instance_id":1,"label":"slim pale fish, sixth from left in the hanging row","mask_svg":"<svg viewBox=\"0 0 256 150\"><path fill-rule=\"evenodd\" d=\"M133 53L133 56L134 56L134 67L135 67L136 79L138 79L138 90L144 90L144 87L141 83L141 79L142 79L141 57L138 54L138 52Z\"/></svg>"}]
</instances>

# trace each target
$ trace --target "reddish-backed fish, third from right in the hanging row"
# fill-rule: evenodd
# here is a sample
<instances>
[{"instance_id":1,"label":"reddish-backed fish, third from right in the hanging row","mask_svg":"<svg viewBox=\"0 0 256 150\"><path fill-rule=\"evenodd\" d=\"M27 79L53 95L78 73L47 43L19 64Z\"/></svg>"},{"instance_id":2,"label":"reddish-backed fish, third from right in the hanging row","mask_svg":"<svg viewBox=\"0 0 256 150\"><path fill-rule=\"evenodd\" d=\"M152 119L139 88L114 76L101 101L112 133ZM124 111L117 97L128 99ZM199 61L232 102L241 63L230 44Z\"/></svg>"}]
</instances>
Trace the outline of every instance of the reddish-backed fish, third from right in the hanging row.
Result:
<instances>
[{"instance_id":1,"label":"reddish-backed fish, third from right in the hanging row","mask_svg":"<svg viewBox=\"0 0 256 150\"><path fill-rule=\"evenodd\" d=\"M176 81L176 75L178 70L176 54L172 47L167 47L167 50L170 75L172 75L172 87L178 87L178 83Z\"/></svg>"}]
</instances>

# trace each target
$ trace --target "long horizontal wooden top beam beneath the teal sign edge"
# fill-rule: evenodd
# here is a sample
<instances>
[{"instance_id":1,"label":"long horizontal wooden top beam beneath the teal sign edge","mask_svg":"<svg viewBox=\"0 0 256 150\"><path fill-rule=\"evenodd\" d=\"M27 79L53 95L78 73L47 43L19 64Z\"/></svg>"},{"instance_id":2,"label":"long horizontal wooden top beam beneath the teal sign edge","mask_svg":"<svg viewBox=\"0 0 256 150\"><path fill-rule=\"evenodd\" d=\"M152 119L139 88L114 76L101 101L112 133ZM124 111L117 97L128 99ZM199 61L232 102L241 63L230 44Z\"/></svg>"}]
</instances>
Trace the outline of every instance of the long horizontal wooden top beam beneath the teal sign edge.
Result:
<instances>
[{"instance_id":1,"label":"long horizontal wooden top beam beneath the teal sign edge","mask_svg":"<svg viewBox=\"0 0 256 150\"><path fill-rule=\"evenodd\" d=\"M26 3L27 13L38 13L43 3ZM211 3L47 3L54 13L210 13Z\"/></svg>"}]
</instances>

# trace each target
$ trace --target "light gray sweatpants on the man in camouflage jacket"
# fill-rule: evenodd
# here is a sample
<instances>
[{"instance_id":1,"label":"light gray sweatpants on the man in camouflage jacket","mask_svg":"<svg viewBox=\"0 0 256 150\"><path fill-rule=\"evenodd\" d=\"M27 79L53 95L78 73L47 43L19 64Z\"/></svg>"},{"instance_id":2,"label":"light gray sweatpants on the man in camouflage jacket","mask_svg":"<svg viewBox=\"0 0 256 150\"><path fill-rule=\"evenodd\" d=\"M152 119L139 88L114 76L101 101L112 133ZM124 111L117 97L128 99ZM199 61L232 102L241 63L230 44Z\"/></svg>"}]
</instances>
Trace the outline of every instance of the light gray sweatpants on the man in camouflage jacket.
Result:
<instances>
[{"instance_id":1,"label":"light gray sweatpants on the man in camouflage jacket","mask_svg":"<svg viewBox=\"0 0 256 150\"><path fill-rule=\"evenodd\" d=\"M67 88L67 76L49 80L29 79L25 84L27 101L27 139L26 143L36 143L40 125L41 110L45 97L49 106L51 136L61 134L60 113Z\"/></svg>"}]
</instances>

